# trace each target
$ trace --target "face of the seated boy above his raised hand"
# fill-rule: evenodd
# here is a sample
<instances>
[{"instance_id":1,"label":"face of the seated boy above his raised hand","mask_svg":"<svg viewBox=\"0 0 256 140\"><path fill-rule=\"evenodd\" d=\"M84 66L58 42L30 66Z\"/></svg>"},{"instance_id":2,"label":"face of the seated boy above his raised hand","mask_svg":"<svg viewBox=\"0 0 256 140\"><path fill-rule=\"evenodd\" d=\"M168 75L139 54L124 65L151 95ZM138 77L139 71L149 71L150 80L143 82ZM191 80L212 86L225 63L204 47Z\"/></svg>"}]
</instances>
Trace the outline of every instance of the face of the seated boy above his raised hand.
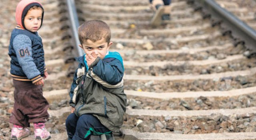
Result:
<instances>
[{"instance_id":1,"label":"face of the seated boy above his raised hand","mask_svg":"<svg viewBox=\"0 0 256 140\"><path fill-rule=\"evenodd\" d=\"M112 44L112 42L108 44L105 38L102 38L96 42L92 42L91 40L87 39L82 45L79 46L84 50L86 55L91 54L92 56L103 59Z\"/></svg>"}]
</instances>

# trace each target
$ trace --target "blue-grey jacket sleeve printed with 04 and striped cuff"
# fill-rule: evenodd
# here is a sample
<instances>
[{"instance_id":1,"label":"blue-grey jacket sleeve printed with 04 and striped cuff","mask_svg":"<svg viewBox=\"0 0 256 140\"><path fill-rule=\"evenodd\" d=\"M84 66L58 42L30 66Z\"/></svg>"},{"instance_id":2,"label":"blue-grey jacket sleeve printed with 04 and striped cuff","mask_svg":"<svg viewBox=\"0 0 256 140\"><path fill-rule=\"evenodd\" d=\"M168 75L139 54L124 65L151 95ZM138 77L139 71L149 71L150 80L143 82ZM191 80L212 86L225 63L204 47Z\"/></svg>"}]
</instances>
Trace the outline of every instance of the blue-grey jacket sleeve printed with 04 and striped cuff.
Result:
<instances>
[{"instance_id":1,"label":"blue-grey jacket sleeve printed with 04 and striped cuff","mask_svg":"<svg viewBox=\"0 0 256 140\"><path fill-rule=\"evenodd\" d=\"M42 80L40 71L37 69L34 59L32 58L32 41L26 35L17 35L13 42L13 48L16 53L18 62L27 78L32 80L33 84Z\"/></svg>"}]
</instances>

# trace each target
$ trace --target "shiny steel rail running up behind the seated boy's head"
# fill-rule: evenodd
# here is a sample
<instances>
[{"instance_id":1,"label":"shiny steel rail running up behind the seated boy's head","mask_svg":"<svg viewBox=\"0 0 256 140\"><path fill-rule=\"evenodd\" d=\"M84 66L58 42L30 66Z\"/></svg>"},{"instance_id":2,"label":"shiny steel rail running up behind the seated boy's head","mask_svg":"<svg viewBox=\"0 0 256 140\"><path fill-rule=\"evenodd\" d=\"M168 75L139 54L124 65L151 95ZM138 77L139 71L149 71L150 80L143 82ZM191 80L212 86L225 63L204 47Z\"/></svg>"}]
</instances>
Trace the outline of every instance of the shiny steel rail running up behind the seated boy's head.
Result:
<instances>
[{"instance_id":1,"label":"shiny steel rail running up behind the seated boy's head","mask_svg":"<svg viewBox=\"0 0 256 140\"><path fill-rule=\"evenodd\" d=\"M73 33L74 41L75 41L76 48L78 51L78 55L82 56L82 55L84 55L84 51L78 46L80 44L80 41L78 39L79 21L78 21L78 16L76 13L76 5L75 5L74 0L66 0L66 2L68 5L68 14L70 17L72 33Z\"/></svg>"}]
</instances>

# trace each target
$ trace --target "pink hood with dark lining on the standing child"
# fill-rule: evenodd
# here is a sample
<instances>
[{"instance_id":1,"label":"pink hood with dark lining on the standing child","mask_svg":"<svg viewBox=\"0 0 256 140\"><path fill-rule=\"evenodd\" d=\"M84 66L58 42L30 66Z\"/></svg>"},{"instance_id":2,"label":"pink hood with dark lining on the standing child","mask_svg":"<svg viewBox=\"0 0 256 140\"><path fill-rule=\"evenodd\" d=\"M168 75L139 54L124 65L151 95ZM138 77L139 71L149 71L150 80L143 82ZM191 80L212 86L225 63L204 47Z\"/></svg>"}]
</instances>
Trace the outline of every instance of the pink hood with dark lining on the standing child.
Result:
<instances>
[{"instance_id":1,"label":"pink hood with dark lining on the standing child","mask_svg":"<svg viewBox=\"0 0 256 140\"><path fill-rule=\"evenodd\" d=\"M26 16L26 14L28 13L28 10L33 6L39 6L43 9L41 23L43 22L44 8L43 8L42 4L40 4L40 2L37 2L36 0L21 0L16 7L15 18L16 18L17 25L19 25L23 29L26 29L25 25L24 25L24 18ZM42 24L41 24L41 26L42 26Z\"/></svg>"}]
</instances>

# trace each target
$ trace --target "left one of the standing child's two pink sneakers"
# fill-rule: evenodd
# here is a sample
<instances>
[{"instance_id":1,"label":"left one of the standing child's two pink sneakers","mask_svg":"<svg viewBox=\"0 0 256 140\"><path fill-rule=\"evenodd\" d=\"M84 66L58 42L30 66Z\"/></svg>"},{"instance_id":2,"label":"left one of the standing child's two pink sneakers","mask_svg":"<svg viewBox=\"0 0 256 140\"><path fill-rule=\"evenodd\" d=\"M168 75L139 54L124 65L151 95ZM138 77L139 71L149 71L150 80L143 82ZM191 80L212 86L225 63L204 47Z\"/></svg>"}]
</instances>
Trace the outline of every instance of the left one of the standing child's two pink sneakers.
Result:
<instances>
[{"instance_id":1,"label":"left one of the standing child's two pink sneakers","mask_svg":"<svg viewBox=\"0 0 256 140\"><path fill-rule=\"evenodd\" d=\"M11 138L10 140L21 140L30 134L30 130L28 128L12 128Z\"/></svg>"}]
</instances>

